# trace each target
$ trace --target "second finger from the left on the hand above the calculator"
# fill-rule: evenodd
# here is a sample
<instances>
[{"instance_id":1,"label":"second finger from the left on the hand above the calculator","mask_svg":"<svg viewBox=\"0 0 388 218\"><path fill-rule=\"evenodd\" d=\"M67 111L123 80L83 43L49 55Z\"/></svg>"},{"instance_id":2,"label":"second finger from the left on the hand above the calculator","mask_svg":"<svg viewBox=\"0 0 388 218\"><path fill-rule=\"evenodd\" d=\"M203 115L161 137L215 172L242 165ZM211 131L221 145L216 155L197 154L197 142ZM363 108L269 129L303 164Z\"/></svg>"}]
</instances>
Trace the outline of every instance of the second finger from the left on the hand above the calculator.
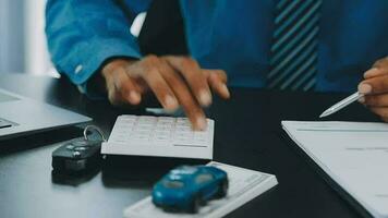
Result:
<instances>
[{"instance_id":1,"label":"second finger from the left on the hand above the calculator","mask_svg":"<svg viewBox=\"0 0 388 218\"><path fill-rule=\"evenodd\" d=\"M157 57L147 57L144 60L142 77L165 109L175 110L178 109L179 104L174 93L171 90L170 86L166 83L165 78L160 74L162 64L165 63L161 62Z\"/></svg>"}]
</instances>

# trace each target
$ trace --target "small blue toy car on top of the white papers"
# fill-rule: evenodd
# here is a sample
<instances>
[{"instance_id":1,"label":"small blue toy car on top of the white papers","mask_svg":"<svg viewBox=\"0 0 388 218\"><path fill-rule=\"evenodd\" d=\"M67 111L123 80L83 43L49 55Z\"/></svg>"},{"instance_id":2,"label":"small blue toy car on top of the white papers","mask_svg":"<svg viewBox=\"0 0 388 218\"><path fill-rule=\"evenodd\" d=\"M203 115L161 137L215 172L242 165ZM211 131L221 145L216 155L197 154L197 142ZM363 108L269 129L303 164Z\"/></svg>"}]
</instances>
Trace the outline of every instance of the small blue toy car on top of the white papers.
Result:
<instances>
[{"instance_id":1,"label":"small blue toy car on top of the white papers","mask_svg":"<svg viewBox=\"0 0 388 218\"><path fill-rule=\"evenodd\" d=\"M165 210L197 213L213 198L225 197L228 174L210 166L181 166L159 180L153 190L153 203Z\"/></svg>"}]
</instances>

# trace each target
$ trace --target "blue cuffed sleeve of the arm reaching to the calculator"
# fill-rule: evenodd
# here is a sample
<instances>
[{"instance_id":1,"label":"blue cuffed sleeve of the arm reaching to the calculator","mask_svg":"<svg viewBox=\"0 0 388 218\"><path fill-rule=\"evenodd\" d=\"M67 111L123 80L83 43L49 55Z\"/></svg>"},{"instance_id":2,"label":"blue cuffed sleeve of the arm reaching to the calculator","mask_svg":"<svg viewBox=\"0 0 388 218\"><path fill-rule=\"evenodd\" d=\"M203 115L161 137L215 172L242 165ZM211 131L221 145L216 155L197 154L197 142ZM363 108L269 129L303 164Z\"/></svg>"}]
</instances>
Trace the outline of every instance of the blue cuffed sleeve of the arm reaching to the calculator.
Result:
<instances>
[{"instance_id":1,"label":"blue cuffed sleeve of the arm reaching to the calculator","mask_svg":"<svg viewBox=\"0 0 388 218\"><path fill-rule=\"evenodd\" d=\"M141 58L130 27L150 0L48 0L46 35L51 60L78 87L113 57ZM121 1L125 4L125 1Z\"/></svg>"}]
</instances>

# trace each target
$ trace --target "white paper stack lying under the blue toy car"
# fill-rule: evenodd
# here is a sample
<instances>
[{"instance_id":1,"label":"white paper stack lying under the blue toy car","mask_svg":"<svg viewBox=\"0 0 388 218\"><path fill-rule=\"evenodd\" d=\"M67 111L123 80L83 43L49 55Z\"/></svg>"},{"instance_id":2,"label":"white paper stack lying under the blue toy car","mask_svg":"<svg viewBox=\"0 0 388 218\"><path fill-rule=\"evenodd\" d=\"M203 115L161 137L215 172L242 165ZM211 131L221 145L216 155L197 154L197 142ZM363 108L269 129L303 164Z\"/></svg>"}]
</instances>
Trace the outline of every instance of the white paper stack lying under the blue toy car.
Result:
<instances>
[{"instance_id":1,"label":"white paper stack lying under the blue toy car","mask_svg":"<svg viewBox=\"0 0 388 218\"><path fill-rule=\"evenodd\" d=\"M167 213L156 207L148 196L124 210L128 218L218 218L242 206L278 184L275 175L220 162L209 162L225 170L229 178L228 195L221 199L211 199L201 207L197 214Z\"/></svg>"}]
</instances>

